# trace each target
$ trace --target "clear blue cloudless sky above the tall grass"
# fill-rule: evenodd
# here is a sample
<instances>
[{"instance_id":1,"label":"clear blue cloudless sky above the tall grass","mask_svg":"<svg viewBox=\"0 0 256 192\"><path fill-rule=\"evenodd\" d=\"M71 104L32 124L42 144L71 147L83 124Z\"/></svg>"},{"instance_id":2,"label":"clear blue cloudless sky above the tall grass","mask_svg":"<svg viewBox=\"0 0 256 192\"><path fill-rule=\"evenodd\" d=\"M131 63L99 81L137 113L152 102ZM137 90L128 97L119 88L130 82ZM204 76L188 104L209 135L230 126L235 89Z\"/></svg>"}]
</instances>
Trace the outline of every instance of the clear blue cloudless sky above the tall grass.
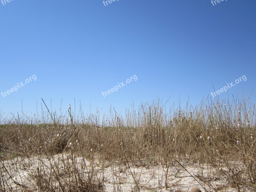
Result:
<instances>
[{"instance_id":1,"label":"clear blue cloudless sky above the tall grass","mask_svg":"<svg viewBox=\"0 0 256 192\"><path fill-rule=\"evenodd\" d=\"M217 3L217 2L216 2ZM3 3L4 4L4 3ZM5 115L81 101L84 113L121 113L156 98L192 105L246 76L220 99L255 88L256 1L14 0L0 4L0 95ZM103 96L136 75L137 81ZM12 90L13 91L13 90ZM250 99L255 102L255 91Z\"/></svg>"}]
</instances>

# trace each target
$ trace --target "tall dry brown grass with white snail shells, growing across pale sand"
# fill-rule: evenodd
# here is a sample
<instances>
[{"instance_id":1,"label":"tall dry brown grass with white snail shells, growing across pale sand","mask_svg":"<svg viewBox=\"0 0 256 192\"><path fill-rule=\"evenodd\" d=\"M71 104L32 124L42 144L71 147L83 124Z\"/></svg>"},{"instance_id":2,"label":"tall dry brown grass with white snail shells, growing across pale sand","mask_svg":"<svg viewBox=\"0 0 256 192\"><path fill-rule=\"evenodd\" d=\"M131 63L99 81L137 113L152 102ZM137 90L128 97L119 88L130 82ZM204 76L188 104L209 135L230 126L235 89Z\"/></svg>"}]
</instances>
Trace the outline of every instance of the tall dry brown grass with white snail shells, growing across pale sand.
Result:
<instances>
[{"instance_id":1,"label":"tall dry brown grass with white snail shells, growing across pale sand","mask_svg":"<svg viewBox=\"0 0 256 192\"><path fill-rule=\"evenodd\" d=\"M158 100L133 106L124 117L110 110L101 120L99 112L85 117L81 106L77 115L72 108L57 115L45 105L40 118L2 119L0 190L105 191L107 169L112 191L126 190L120 179L125 172L133 180L130 191L182 191L180 181L170 178L181 172L205 191L255 190L255 105L247 99L206 101L166 112ZM189 164L197 165L196 174ZM154 187L142 185L134 167L158 167L161 184L158 178ZM33 171L24 181L19 169Z\"/></svg>"}]
</instances>

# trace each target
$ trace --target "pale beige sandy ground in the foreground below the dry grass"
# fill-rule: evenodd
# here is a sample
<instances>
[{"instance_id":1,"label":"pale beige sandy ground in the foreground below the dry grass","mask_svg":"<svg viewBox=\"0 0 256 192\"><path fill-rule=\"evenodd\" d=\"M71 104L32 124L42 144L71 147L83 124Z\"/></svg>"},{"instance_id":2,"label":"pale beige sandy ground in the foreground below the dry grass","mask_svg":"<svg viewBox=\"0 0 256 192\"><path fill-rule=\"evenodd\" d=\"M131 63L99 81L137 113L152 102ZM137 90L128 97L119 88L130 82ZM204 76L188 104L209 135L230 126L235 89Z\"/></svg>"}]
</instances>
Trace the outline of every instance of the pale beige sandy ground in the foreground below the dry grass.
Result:
<instances>
[{"instance_id":1,"label":"pale beige sandy ground in the foreground below the dry grass","mask_svg":"<svg viewBox=\"0 0 256 192\"><path fill-rule=\"evenodd\" d=\"M64 158L63 158L64 157ZM0 191L21 191L22 186L26 186L29 191L38 191L36 180L38 179L38 172L42 175L49 177L51 170L55 170L60 175L62 180L67 175L67 163L71 164L70 170L73 170L72 159L68 159L68 156L55 155L53 158L42 158L41 164L39 164L38 156L29 158L15 158L9 161L1 161L1 190ZM215 191L237 191L234 188L226 187L225 182L219 180L218 174L214 172L211 167L205 166L202 171L202 166L198 164L190 163L184 164L187 171L193 175L192 177L182 167L169 166L168 172L165 166L161 164L155 166L139 166L138 164L128 165L113 164L106 162L104 166L97 162L91 163L90 161L83 160L80 157L75 157L77 164L75 165L79 170L81 177L87 177L92 172L94 178L97 176L97 180L100 180L101 185L107 192L111 191L136 191L134 179L137 180L140 191L191 191L192 186L198 186L201 191L214 191L209 186L204 185L196 175L201 175L203 172L204 179L207 180L214 188L219 187L219 190ZM86 167L84 166L84 163ZM51 162L51 163L50 163ZM4 166L3 166L4 164ZM52 166L52 165L53 166ZM5 168L4 168L5 167ZM176 174L177 173L177 174ZM176 174L176 177L175 177ZM104 177L104 182L103 182ZM165 181L167 180L168 188L165 188ZM196 181L197 180L197 181ZM55 191L60 191L58 182L56 183ZM206 190L201 186L203 185ZM244 188L244 191L253 191L251 189Z\"/></svg>"}]
</instances>

